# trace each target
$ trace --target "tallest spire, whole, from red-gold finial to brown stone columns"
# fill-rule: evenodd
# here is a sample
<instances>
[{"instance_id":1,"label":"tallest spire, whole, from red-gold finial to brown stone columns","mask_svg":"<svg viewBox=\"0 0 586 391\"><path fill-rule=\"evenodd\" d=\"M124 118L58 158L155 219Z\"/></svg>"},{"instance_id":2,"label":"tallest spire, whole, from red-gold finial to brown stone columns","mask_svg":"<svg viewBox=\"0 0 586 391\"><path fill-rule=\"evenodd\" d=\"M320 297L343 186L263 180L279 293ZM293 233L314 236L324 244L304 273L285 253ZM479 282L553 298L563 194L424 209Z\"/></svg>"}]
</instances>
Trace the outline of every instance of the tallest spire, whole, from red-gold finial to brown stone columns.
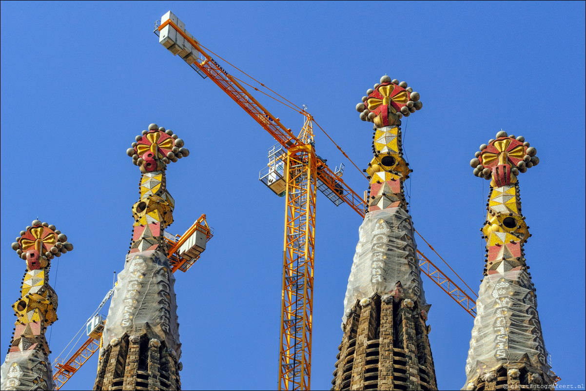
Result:
<instances>
[{"instance_id":1,"label":"tallest spire, whole, from red-gold finial to brown stone columns","mask_svg":"<svg viewBox=\"0 0 586 391\"><path fill-rule=\"evenodd\" d=\"M403 183L401 117L423 105L407 83L383 76L356 106L374 123L374 158L366 169L368 210L348 278L343 337L332 389L437 389L413 224Z\"/></svg>"}]
</instances>

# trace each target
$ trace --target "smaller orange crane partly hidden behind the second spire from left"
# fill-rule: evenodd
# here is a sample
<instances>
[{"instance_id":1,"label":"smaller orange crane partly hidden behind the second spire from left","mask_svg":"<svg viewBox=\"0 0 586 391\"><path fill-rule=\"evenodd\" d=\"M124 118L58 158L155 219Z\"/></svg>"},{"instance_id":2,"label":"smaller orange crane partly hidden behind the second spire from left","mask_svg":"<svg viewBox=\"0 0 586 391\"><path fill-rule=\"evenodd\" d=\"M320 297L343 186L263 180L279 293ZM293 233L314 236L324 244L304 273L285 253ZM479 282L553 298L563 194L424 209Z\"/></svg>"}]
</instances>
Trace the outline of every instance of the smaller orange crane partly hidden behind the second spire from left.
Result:
<instances>
[{"instance_id":1,"label":"smaller orange crane partly hidden behind the second spire from left","mask_svg":"<svg viewBox=\"0 0 586 391\"><path fill-rule=\"evenodd\" d=\"M205 250L207 243L213 237L213 229L207 225L206 215L197 219L189 229L182 235L169 234L165 232L165 242L169 245L168 259L173 273L175 271L187 271L199 259L200 254ZM55 389L59 390L75 375L77 370L86 363L102 346L102 333L104 331L105 318L100 315L104 304L114 294L114 287L108 291L104 300L98 305L94 314L86 322L87 340L81 344L79 349L66 361L60 357L54 360L53 382ZM77 335L76 335L77 336ZM75 336L73 337L75 338ZM72 340L73 341L73 340ZM69 346L69 345L68 345ZM67 347L66 347L67 349Z\"/></svg>"}]
</instances>

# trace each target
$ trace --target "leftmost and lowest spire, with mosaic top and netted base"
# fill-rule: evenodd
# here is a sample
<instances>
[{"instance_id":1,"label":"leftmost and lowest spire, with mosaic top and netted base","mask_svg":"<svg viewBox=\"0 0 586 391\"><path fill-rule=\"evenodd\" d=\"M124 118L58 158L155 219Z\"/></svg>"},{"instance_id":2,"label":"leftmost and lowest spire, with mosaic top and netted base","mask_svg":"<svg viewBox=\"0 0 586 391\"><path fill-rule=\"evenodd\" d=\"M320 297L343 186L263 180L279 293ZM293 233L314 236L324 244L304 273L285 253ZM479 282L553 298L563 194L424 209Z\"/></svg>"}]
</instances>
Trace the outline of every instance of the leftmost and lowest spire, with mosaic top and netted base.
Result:
<instances>
[{"instance_id":1,"label":"leftmost and lowest spire, with mosaic top and netted base","mask_svg":"<svg viewBox=\"0 0 586 391\"><path fill-rule=\"evenodd\" d=\"M53 225L34 220L21 231L12 249L26 261L21 298L12 308L16 322L2 368L2 390L52 390L53 370L45 331L57 320L57 294L49 285L54 257L73 250L67 236Z\"/></svg>"}]
</instances>

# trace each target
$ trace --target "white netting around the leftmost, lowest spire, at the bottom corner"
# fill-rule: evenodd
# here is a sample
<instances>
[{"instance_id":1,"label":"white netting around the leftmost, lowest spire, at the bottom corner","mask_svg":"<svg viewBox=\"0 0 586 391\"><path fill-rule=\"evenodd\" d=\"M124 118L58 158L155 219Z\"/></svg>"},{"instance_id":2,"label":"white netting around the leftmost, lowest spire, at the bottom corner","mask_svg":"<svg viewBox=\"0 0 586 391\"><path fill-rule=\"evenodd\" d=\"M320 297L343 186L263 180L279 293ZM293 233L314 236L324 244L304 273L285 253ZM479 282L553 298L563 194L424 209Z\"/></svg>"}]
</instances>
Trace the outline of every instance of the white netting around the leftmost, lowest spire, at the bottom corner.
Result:
<instances>
[{"instance_id":1,"label":"white netting around the leftmost, lowest spire, at the bottom corner","mask_svg":"<svg viewBox=\"0 0 586 391\"><path fill-rule=\"evenodd\" d=\"M0 367L2 390L54 390L53 370L49 359L34 349L12 352Z\"/></svg>"}]
</instances>

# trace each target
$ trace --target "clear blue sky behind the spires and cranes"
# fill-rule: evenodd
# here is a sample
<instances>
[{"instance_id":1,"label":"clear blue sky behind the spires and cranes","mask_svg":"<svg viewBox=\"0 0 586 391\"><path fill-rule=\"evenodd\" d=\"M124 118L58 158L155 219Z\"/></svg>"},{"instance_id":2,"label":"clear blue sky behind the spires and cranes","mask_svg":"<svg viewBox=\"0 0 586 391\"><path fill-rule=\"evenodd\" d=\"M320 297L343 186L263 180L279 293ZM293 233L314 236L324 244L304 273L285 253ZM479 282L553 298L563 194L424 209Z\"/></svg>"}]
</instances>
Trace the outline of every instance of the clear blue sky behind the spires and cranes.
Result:
<instances>
[{"instance_id":1,"label":"clear blue sky behind the spires and cranes","mask_svg":"<svg viewBox=\"0 0 586 391\"><path fill-rule=\"evenodd\" d=\"M274 141L210 80L159 45L171 9L203 45L308 110L361 168L371 125L356 103L383 74L421 94L403 121L414 170L415 229L478 289L488 182L468 162L501 128L541 163L520 176L525 248L553 369L584 375L584 2L2 2L1 334L25 263L10 249L36 217L75 248L53 262L59 295L54 358L121 271L138 199L125 150L148 124L192 152L168 168L175 222L201 213L215 229L202 258L176 276L183 389L275 389L284 200L258 181ZM220 62L221 63L221 62ZM222 64L222 63L221 63ZM225 67L228 72L233 70ZM263 96L283 124L303 117ZM316 150L366 180L321 131ZM329 389L360 225L345 205L317 206L312 388ZM419 242L424 253L430 253ZM424 277L440 389L465 382L473 319ZM63 390L91 389L93 357Z\"/></svg>"}]
</instances>

